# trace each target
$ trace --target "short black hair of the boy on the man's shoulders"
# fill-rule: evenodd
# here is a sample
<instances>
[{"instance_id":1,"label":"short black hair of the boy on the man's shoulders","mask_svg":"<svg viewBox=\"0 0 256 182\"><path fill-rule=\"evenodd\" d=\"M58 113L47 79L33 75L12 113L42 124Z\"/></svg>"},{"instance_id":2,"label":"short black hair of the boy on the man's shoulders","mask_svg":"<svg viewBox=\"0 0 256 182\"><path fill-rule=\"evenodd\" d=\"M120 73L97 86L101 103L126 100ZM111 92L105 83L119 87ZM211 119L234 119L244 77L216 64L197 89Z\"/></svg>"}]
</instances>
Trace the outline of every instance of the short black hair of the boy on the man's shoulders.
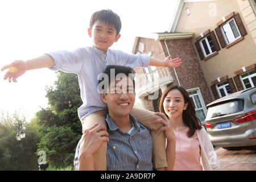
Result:
<instances>
[{"instance_id":1,"label":"short black hair of the boy on the man's shoulders","mask_svg":"<svg viewBox=\"0 0 256 182\"><path fill-rule=\"evenodd\" d=\"M108 26L113 26L117 31L117 35L119 34L122 27L122 23L120 17L112 10L100 10L93 13L92 17L90 18L90 29L92 29L93 24L97 20L106 23Z\"/></svg>"}]
</instances>

